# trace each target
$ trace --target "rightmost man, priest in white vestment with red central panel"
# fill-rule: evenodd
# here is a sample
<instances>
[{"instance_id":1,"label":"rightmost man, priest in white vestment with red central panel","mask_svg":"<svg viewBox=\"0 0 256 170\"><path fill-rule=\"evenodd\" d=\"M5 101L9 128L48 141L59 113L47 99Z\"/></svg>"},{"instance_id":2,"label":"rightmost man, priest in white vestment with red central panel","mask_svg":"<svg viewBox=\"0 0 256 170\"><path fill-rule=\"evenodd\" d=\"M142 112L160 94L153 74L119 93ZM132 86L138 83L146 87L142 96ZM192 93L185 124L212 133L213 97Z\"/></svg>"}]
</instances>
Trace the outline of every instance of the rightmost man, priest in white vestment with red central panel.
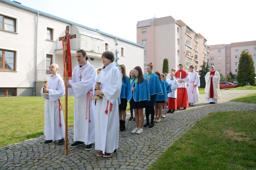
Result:
<instances>
[{"instance_id":1,"label":"rightmost man, priest in white vestment with red central panel","mask_svg":"<svg viewBox=\"0 0 256 170\"><path fill-rule=\"evenodd\" d=\"M214 70L214 66L210 67L210 71L205 75L205 101L214 104L218 102L221 96L219 90L219 73Z\"/></svg>"}]
</instances>

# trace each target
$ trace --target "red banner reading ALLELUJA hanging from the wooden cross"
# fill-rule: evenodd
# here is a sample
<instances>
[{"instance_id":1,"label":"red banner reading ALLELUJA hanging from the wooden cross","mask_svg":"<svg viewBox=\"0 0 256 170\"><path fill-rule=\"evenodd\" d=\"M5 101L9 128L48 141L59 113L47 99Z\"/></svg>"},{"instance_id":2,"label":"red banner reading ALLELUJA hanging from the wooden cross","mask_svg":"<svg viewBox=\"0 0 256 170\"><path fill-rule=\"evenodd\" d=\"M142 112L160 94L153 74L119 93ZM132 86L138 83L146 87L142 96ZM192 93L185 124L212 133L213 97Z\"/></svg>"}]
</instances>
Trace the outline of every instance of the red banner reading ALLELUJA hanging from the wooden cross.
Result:
<instances>
[{"instance_id":1,"label":"red banner reading ALLELUJA hanging from the wooden cross","mask_svg":"<svg viewBox=\"0 0 256 170\"><path fill-rule=\"evenodd\" d=\"M70 35L68 35L67 40L65 39L66 36L62 38L62 48L63 48L63 64L64 64L64 72L63 72L63 77L65 77L65 62L67 62L67 70L68 70L68 79L72 79L72 64L71 64L71 52L70 52L70 43L69 43L69 38ZM65 61L65 54L67 53L68 60Z\"/></svg>"}]
</instances>

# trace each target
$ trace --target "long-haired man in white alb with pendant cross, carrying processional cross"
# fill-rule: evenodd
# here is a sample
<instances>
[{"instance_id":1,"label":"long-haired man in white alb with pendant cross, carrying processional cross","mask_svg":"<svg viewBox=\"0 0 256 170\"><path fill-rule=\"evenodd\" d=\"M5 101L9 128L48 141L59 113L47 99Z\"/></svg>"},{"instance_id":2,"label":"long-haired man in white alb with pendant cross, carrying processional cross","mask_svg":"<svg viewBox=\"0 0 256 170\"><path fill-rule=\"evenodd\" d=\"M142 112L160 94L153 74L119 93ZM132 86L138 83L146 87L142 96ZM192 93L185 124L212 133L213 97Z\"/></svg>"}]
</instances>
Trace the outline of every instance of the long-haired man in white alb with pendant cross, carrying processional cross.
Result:
<instances>
[{"instance_id":1,"label":"long-haired man in white alb with pendant cross, carrying processional cross","mask_svg":"<svg viewBox=\"0 0 256 170\"><path fill-rule=\"evenodd\" d=\"M88 62L84 50L76 51L78 66L72 72L72 80L65 78L65 87L68 95L74 94L74 143L75 148L84 143L85 150L93 149L95 142L95 102L93 99L94 83L96 78L95 68Z\"/></svg>"}]
</instances>

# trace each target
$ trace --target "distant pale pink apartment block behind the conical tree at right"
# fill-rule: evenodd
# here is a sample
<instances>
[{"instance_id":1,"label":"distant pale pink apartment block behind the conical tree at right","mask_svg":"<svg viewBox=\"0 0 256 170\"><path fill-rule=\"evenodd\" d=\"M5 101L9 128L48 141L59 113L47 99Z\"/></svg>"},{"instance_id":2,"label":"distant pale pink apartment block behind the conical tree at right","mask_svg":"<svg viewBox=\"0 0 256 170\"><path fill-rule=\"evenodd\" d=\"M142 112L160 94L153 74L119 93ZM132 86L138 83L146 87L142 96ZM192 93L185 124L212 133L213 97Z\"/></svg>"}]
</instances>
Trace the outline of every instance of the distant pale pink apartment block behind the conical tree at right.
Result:
<instances>
[{"instance_id":1,"label":"distant pale pink apartment block behind the conical tree at right","mask_svg":"<svg viewBox=\"0 0 256 170\"><path fill-rule=\"evenodd\" d=\"M252 55L254 67L256 68L256 41L209 45L209 48L209 65L213 65L215 70L224 76L227 76L230 71L233 74L238 73L239 58L243 50L249 51Z\"/></svg>"}]
</instances>

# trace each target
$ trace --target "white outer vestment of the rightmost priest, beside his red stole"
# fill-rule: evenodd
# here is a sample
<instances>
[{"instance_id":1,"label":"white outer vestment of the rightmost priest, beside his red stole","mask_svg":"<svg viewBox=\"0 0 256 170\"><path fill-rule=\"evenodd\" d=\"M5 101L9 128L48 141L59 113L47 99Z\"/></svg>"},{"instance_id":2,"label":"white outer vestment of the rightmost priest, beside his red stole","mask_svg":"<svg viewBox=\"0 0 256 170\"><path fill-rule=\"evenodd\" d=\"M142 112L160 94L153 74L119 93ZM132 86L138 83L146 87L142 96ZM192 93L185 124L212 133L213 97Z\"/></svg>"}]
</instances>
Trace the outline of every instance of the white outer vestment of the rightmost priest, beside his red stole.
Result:
<instances>
[{"instance_id":1,"label":"white outer vestment of the rightmost priest, beside his red stole","mask_svg":"<svg viewBox=\"0 0 256 170\"><path fill-rule=\"evenodd\" d=\"M220 80L220 75L217 71L215 71L214 76L212 78L212 83L213 83L213 98L210 98L210 88L211 88L211 78L210 78L210 72L209 71L205 75L205 102L218 102L219 97L221 96L221 92L219 90L219 80Z\"/></svg>"}]
</instances>

